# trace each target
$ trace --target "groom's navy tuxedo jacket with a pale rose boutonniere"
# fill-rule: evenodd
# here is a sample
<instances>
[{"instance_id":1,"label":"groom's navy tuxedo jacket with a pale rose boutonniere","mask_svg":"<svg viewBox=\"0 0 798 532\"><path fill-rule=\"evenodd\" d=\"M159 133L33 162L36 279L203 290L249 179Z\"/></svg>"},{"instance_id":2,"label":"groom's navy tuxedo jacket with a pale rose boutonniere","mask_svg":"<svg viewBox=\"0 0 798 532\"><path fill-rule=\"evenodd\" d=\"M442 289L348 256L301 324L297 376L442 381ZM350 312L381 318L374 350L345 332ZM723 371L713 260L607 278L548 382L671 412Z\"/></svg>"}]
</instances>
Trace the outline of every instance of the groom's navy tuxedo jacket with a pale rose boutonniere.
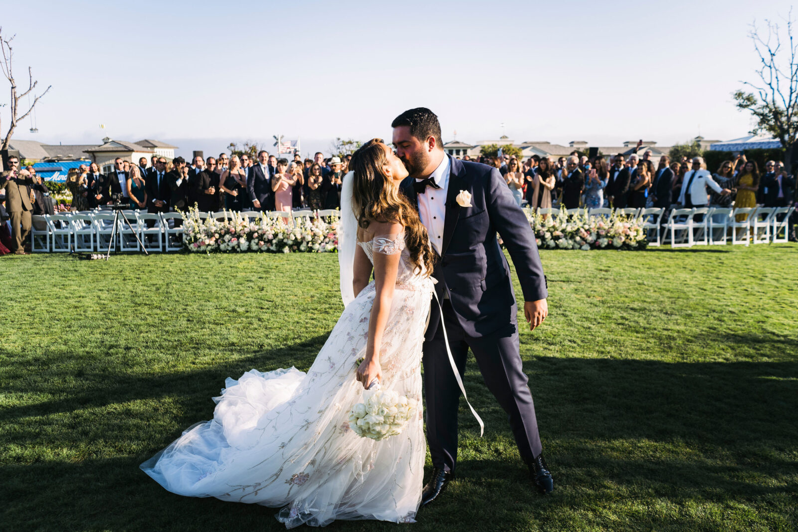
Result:
<instances>
[{"instance_id":1,"label":"groom's navy tuxedo jacket with a pale rose boutonniere","mask_svg":"<svg viewBox=\"0 0 798 532\"><path fill-rule=\"evenodd\" d=\"M457 321L468 336L515 333L515 292L510 266L496 234L501 235L516 266L524 300L538 301L547 298L548 292L535 234L499 170L448 157L451 173L443 245L433 272L438 297L448 294ZM405 179L401 189L417 206L414 180ZM460 191L471 193L471 207L458 205ZM432 339L440 322L436 307L433 302L427 340Z\"/></svg>"}]
</instances>

